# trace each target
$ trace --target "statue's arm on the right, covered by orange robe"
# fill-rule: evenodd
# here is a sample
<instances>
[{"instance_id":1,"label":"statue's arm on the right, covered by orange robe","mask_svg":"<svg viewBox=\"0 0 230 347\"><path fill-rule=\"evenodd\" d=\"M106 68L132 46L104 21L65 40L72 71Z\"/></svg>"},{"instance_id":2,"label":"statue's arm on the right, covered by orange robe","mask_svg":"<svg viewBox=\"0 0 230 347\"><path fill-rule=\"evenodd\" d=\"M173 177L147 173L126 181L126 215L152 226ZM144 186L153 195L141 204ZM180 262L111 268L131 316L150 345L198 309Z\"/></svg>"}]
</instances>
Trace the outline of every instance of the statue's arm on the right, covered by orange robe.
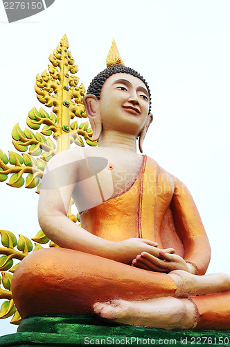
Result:
<instances>
[{"instance_id":1,"label":"statue's arm on the right, covered by orange robe","mask_svg":"<svg viewBox=\"0 0 230 347\"><path fill-rule=\"evenodd\" d=\"M175 228L184 244L184 260L195 265L198 275L204 275L211 257L209 239L190 192L178 179L171 208Z\"/></svg>"}]
</instances>

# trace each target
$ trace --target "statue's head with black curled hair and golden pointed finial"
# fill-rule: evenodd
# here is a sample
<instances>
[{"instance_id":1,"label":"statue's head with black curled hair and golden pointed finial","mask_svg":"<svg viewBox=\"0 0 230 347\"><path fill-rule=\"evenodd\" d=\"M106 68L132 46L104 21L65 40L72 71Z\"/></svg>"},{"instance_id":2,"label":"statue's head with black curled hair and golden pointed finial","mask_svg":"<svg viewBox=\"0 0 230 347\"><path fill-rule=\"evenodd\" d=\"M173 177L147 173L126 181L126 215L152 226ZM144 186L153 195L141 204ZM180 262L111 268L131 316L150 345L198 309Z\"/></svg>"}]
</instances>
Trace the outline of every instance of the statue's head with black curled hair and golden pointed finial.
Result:
<instances>
[{"instance_id":1,"label":"statue's head with black curled hair and golden pointed finial","mask_svg":"<svg viewBox=\"0 0 230 347\"><path fill-rule=\"evenodd\" d=\"M117 75L114 76L115 74ZM126 81L126 86L123 85L123 81ZM129 122L127 122L127 124L125 125L123 123L123 118L119 117L118 113L116 113L116 119L114 119L114 122L112 123L114 123L115 128L118 124L118 127L120 126L120 128L122 128L124 132L127 131L128 133L132 133L132 135L139 137L139 149L141 152L143 152L143 139L147 133L150 123L152 122L152 114L150 113L150 88L148 87L148 83L145 81L143 76L141 76L134 69L125 67L121 57L118 55L118 50L114 41L107 56L107 69L104 69L96 77L94 77L94 79L89 84L87 95L83 99L87 115L94 132L94 135L92 137L92 139L94 140L99 139L100 134L103 130L103 124L105 125L105 117L103 118L103 115L101 114L103 113L103 108L107 107L107 110L112 111L112 108L114 107L115 109L118 105L117 102L113 102L111 95L107 93L108 88L110 88L110 91L113 92L113 85L114 88L119 88L120 90L133 90L136 88L136 96L132 96L129 100L126 101L125 99L123 99L124 104L122 105L122 107L125 108L127 106L127 111L131 110L131 114L133 113L134 115L135 113L136 115L138 113L139 117L132 117L133 123L130 123L132 119L129 119ZM105 97L109 100L110 104L104 102L104 94ZM122 95L119 96L117 93L113 95L116 101L118 101L119 97L120 99L122 98ZM112 107L110 107L111 104ZM131 107L129 108L128 106L130 104ZM134 108L134 110L132 110L132 107ZM137 133L135 133L135 131L137 131Z\"/></svg>"}]
</instances>

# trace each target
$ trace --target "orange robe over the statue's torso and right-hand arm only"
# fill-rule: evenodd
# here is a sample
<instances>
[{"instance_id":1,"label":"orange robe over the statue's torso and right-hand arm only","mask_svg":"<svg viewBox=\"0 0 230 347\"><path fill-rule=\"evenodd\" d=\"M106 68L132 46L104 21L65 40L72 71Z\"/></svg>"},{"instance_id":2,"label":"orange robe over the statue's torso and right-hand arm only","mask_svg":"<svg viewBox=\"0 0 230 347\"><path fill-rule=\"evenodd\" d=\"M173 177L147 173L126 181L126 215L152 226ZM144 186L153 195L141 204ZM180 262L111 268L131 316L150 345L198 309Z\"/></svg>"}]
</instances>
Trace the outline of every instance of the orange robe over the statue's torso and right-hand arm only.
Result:
<instances>
[{"instance_id":1,"label":"orange robe over the statue's torso and right-hand arm only","mask_svg":"<svg viewBox=\"0 0 230 347\"><path fill-rule=\"evenodd\" d=\"M209 240L193 198L182 182L143 155L141 171L127 192L81 214L82 227L110 241L150 239L173 247L198 275L209 266Z\"/></svg>"}]
</instances>

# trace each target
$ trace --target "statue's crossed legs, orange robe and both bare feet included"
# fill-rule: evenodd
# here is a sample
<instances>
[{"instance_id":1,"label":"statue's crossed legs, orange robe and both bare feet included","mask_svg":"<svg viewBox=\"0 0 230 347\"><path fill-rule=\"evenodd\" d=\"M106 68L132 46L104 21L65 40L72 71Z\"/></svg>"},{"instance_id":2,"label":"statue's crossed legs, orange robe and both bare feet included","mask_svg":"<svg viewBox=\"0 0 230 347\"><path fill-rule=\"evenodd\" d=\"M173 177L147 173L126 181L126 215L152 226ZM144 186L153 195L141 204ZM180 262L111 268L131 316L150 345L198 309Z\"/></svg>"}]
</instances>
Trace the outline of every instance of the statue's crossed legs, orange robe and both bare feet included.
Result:
<instances>
[{"instance_id":1,"label":"statue's crossed legs, orange robe and both bare feet included","mask_svg":"<svg viewBox=\"0 0 230 347\"><path fill-rule=\"evenodd\" d=\"M12 294L22 317L93 310L120 323L187 329L195 326L196 317L199 323L199 317L206 316L204 328L230 329L230 279L222 273L167 275L87 253L46 248L19 264Z\"/></svg>"}]
</instances>

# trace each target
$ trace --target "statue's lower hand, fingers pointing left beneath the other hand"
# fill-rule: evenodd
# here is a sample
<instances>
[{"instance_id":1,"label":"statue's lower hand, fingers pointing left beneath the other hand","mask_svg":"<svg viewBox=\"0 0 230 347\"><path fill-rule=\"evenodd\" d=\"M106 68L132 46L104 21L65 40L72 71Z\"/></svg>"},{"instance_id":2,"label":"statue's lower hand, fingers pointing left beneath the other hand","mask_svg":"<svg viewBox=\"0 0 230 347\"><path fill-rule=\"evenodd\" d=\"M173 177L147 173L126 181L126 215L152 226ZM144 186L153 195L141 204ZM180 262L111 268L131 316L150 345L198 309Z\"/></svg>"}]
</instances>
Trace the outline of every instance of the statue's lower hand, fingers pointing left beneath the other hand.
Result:
<instances>
[{"instance_id":1,"label":"statue's lower hand, fingers pointing left beneath the other hand","mask_svg":"<svg viewBox=\"0 0 230 347\"><path fill-rule=\"evenodd\" d=\"M159 256L154 256L147 252L142 252L132 261L132 266L140 269L165 272L173 270L184 270L190 272L186 261L177 254L170 254L168 250L159 250Z\"/></svg>"}]
</instances>

